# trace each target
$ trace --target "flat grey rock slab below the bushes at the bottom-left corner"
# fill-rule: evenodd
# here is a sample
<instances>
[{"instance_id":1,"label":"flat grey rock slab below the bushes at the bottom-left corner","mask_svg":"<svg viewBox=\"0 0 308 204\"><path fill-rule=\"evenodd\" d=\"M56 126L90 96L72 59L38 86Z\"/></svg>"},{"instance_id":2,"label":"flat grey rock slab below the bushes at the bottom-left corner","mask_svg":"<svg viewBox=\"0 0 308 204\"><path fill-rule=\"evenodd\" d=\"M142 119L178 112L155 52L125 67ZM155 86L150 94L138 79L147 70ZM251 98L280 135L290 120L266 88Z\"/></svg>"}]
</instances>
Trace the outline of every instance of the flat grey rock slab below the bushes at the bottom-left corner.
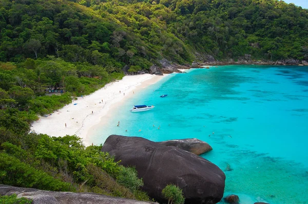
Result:
<instances>
[{"instance_id":1,"label":"flat grey rock slab below the bushes at the bottom-left corner","mask_svg":"<svg viewBox=\"0 0 308 204\"><path fill-rule=\"evenodd\" d=\"M0 185L0 195L17 194L17 197L25 197L33 200L32 204L146 204L155 202L143 202L119 197L111 197L94 193L72 193L43 191L31 188L20 188Z\"/></svg>"}]
</instances>

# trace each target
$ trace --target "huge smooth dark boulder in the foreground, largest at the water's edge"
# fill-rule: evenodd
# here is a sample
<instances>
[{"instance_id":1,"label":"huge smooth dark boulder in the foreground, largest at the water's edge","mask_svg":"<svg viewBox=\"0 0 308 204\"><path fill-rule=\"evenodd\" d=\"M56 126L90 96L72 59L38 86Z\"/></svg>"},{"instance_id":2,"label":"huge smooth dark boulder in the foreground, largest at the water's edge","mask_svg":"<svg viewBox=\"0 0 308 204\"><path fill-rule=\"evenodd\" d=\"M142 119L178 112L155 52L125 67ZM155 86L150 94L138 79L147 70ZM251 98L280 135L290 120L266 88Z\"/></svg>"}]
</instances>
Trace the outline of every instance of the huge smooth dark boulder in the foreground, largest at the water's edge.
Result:
<instances>
[{"instance_id":1,"label":"huge smooth dark boulder in the foreground, largest at the water's edge","mask_svg":"<svg viewBox=\"0 0 308 204\"><path fill-rule=\"evenodd\" d=\"M143 190L160 202L167 202L162 190L175 184L185 203L217 203L223 197L225 175L215 164L174 146L163 146L139 137L110 135L102 147L115 161L136 167L143 178Z\"/></svg>"}]
</instances>

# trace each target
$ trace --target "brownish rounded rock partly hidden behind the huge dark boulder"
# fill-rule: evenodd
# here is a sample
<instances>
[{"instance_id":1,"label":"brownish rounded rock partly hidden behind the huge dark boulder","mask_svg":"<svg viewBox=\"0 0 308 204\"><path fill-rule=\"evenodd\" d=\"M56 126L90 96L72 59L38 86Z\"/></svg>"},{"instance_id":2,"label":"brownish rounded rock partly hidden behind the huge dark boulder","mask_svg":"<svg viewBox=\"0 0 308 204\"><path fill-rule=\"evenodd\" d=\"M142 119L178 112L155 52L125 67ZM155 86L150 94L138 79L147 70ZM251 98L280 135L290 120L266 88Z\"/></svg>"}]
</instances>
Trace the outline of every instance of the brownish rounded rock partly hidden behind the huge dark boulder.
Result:
<instances>
[{"instance_id":1,"label":"brownish rounded rock partly hidden behind the huge dark boulder","mask_svg":"<svg viewBox=\"0 0 308 204\"><path fill-rule=\"evenodd\" d=\"M203 154L213 149L206 142L203 142L196 138L183 139L183 140L168 140L168 141L159 142L159 143L164 146L175 146L175 147L178 147L180 149L189 151L197 155Z\"/></svg>"}]
</instances>

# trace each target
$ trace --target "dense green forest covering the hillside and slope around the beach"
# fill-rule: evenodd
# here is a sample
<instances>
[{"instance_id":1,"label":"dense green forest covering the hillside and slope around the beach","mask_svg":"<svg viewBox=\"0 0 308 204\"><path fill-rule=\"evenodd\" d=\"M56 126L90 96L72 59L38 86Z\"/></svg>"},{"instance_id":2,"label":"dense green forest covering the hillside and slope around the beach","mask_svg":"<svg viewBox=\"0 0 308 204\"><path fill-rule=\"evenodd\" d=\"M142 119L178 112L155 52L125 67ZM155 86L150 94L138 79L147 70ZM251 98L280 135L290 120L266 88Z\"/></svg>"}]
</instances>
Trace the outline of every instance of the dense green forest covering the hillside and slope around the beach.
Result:
<instances>
[{"instance_id":1,"label":"dense green forest covering the hillside and slope around the beach","mask_svg":"<svg viewBox=\"0 0 308 204\"><path fill-rule=\"evenodd\" d=\"M31 123L160 60L308 60L308 10L277 0L0 0L0 183L150 200L101 146ZM206 57L205 57L206 58Z\"/></svg>"}]
</instances>

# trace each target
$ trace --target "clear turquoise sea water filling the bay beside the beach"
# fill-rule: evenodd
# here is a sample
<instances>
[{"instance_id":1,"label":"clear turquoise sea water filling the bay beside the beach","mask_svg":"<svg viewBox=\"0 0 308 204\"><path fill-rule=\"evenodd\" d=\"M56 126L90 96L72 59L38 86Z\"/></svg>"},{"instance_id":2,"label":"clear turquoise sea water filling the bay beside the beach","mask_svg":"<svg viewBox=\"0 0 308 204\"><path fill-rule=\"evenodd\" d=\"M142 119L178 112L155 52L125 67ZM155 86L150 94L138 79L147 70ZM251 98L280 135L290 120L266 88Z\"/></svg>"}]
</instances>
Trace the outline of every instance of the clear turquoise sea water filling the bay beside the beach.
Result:
<instances>
[{"instance_id":1,"label":"clear turquoise sea water filling the bay beside the beach","mask_svg":"<svg viewBox=\"0 0 308 204\"><path fill-rule=\"evenodd\" d=\"M308 68L228 65L187 72L135 93L93 141L104 143L110 134L198 138L213 147L202 156L226 174L225 195L239 195L242 204L308 203ZM129 111L141 104L156 107Z\"/></svg>"}]
</instances>

